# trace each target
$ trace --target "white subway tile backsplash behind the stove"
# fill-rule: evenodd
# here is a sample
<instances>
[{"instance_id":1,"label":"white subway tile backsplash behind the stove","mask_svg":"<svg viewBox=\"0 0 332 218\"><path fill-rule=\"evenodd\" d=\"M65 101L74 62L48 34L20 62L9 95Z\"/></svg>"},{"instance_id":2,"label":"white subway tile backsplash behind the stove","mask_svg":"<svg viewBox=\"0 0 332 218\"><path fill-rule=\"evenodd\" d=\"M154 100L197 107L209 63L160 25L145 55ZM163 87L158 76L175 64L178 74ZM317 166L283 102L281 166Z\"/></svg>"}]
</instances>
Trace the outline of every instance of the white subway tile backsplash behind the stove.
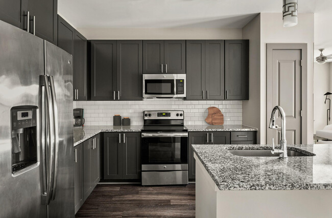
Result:
<instances>
[{"instance_id":1,"label":"white subway tile backsplash behind the stove","mask_svg":"<svg viewBox=\"0 0 332 218\"><path fill-rule=\"evenodd\" d=\"M143 101L75 101L84 109L85 125L113 125L113 115L129 116L131 125L143 125L144 110L183 110L185 125L203 125L208 107L218 107L224 124L242 124L242 101L184 101L182 99L144 99Z\"/></svg>"}]
</instances>

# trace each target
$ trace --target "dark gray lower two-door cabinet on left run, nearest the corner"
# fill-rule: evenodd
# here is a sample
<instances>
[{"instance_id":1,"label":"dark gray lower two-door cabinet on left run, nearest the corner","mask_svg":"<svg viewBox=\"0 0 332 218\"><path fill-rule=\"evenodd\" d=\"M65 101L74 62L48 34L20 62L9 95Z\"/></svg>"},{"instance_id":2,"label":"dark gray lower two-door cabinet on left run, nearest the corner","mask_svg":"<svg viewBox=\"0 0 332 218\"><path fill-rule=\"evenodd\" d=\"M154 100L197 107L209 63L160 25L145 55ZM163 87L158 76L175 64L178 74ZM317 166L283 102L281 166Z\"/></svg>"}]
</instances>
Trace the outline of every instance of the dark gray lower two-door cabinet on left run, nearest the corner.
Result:
<instances>
[{"instance_id":1,"label":"dark gray lower two-door cabinet on left run, nearest the corner","mask_svg":"<svg viewBox=\"0 0 332 218\"><path fill-rule=\"evenodd\" d=\"M96 187L99 175L99 135L83 142L83 197L84 201Z\"/></svg>"}]
</instances>

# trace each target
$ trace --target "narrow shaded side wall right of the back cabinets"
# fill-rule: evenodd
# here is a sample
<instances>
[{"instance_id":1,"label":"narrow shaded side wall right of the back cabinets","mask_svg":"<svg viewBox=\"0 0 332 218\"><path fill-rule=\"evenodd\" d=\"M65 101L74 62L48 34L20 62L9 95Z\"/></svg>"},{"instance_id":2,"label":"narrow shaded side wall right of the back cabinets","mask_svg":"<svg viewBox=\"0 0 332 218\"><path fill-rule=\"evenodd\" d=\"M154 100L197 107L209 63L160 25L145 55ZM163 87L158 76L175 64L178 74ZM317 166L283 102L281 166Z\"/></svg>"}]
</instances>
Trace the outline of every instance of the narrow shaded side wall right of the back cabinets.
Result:
<instances>
[{"instance_id":1,"label":"narrow shaded side wall right of the back cabinets","mask_svg":"<svg viewBox=\"0 0 332 218\"><path fill-rule=\"evenodd\" d=\"M242 30L242 38L249 39L249 101L243 101L242 121L258 128L260 135L260 14ZM260 143L260 137L257 137Z\"/></svg>"}]
</instances>

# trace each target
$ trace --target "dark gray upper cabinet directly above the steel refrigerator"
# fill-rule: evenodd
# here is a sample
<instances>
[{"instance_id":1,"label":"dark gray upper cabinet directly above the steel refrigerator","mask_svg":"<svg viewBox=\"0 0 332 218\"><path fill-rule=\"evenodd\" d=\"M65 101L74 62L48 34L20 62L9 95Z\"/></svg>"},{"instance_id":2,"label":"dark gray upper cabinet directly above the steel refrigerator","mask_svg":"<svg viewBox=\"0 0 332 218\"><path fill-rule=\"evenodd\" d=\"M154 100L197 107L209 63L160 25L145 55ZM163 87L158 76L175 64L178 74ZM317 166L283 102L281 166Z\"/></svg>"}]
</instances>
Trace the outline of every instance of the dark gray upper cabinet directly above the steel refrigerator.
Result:
<instances>
[{"instance_id":1,"label":"dark gray upper cabinet directly above the steel refrigerator","mask_svg":"<svg viewBox=\"0 0 332 218\"><path fill-rule=\"evenodd\" d=\"M57 44L57 11L57 0L0 1L0 19L53 44Z\"/></svg>"}]
</instances>

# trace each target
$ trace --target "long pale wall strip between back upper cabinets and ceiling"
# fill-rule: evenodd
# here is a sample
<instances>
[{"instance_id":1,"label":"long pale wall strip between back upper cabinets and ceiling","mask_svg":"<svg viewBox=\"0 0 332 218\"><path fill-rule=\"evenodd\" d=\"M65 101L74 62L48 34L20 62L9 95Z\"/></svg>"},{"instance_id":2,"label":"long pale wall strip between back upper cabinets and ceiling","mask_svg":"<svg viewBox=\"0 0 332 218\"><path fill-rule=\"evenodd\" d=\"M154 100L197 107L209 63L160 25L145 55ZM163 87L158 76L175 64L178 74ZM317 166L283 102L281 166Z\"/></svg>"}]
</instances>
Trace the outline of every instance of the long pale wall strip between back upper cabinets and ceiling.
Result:
<instances>
[{"instance_id":1,"label":"long pale wall strip between back upper cabinets and ceiling","mask_svg":"<svg viewBox=\"0 0 332 218\"><path fill-rule=\"evenodd\" d=\"M78 28L87 39L242 39L242 29Z\"/></svg>"}]
</instances>

